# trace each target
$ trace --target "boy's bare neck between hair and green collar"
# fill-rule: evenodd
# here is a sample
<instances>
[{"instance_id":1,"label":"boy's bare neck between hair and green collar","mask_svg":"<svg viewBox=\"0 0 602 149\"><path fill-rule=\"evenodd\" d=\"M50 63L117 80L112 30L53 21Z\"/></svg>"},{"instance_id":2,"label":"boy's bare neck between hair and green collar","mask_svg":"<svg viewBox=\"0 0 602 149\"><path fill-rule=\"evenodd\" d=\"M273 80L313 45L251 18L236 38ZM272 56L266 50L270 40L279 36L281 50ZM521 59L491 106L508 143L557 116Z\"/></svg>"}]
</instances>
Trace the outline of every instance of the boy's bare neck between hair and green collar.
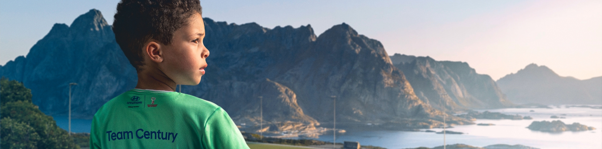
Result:
<instances>
[{"instance_id":1,"label":"boy's bare neck between hair and green collar","mask_svg":"<svg viewBox=\"0 0 602 149\"><path fill-rule=\"evenodd\" d=\"M138 89L149 89L149 90L161 90L161 91L175 91L176 83L172 79L167 78L165 74L148 73L142 71L138 73Z\"/></svg>"}]
</instances>

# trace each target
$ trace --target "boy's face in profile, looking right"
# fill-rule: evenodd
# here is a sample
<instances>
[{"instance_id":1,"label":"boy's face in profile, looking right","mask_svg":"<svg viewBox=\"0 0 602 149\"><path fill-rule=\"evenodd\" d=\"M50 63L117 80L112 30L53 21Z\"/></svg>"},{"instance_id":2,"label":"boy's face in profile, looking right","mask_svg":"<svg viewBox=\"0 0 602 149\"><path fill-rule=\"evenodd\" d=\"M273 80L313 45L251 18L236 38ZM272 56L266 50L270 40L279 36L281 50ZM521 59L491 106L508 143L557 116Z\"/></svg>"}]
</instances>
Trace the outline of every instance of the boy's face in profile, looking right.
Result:
<instances>
[{"instance_id":1,"label":"boy's face in profile, looking right","mask_svg":"<svg viewBox=\"0 0 602 149\"><path fill-rule=\"evenodd\" d=\"M199 13L194 13L188 25L173 33L172 44L163 47L163 62L159 68L176 84L197 85L205 74L209 50L203 45L205 25Z\"/></svg>"}]
</instances>

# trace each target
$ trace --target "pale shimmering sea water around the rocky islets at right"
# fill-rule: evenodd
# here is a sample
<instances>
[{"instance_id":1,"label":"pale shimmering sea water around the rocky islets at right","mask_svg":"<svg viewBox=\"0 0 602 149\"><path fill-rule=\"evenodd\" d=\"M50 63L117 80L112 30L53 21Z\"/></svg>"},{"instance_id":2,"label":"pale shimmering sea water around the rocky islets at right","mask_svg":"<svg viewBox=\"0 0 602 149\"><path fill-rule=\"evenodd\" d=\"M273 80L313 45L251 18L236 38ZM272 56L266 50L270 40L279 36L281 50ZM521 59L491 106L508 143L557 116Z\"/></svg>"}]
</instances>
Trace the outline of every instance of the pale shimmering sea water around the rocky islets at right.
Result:
<instances>
[{"instance_id":1,"label":"pale shimmering sea water around the rocky islets at right","mask_svg":"<svg viewBox=\"0 0 602 149\"><path fill-rule=\"evenodd\" d=\"M534 110L535 112L529 112ZM484 110L483 110L484 111ZM523 144L537 148L602 148L602 109L556 108L554 109L492 109L491 112L529 115L533 120L477 120L475 123L493 123L495 126L455 126L447 129L464 132L464 135L446 135L447 144L468 144L484 147L492 144ZM566 116L560 116L566 114ZM551 115L566 117L552 119ZM527 129L532 121L561 120L566 124L574 122L596 127L584 132L544 133ZM431 129L440 132L442 129ZM331 133L332 134L332 133ZM332 142L332 135L320 136L318 140ZM443 144L443 135L427 132L400 131L347 131L337 134L337 142L358 141L362 145L376 145L385 148L435 147Z\"/></svg>"}]
</instances>

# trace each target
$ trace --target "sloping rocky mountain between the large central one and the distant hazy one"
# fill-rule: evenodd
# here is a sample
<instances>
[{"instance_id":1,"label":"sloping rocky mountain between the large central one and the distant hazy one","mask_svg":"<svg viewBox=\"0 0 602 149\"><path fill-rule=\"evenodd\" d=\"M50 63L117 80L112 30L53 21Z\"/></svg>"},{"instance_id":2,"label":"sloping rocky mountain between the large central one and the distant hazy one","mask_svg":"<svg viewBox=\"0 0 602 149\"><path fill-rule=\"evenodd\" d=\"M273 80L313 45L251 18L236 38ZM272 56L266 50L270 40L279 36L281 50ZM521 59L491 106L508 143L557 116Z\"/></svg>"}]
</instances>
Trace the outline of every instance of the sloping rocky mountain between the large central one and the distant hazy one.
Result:
<instances>
[{"instance_id":1,"label":"sloping rocky mountain between the large central one and the distant hazy one","mask_svg":"<svg viewBox=\"0 0 602 149\"><path fill-rule=\"evenodd\" d=\"M438 109L465 111L514 106L487 74L477 74L466 62L435 61L429 56L391 56L414 93Z\"/></svg>"}]
</instances>

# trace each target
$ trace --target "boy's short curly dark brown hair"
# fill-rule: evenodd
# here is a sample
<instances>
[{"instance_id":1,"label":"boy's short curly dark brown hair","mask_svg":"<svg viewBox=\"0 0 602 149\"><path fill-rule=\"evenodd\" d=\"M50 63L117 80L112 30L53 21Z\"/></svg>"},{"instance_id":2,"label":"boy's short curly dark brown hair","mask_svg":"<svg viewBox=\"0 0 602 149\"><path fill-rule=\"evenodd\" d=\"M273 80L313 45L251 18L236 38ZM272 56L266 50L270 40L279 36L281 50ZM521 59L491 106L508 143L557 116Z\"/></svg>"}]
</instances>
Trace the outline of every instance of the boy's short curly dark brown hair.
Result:
<instances>
[{"instance_id":1,"label":"boy's short curly dark brown hair","mask_svg":"<svg viewBox=\"0 0 602 149\"><path fill-rule=\"evenodd\" d=\"M144 44L149 40L171 44L173 32L188 25L194 13L202 14L199 0L122 0L113 32L130 64L140 70Z\"/></svg>"}]
</instances>

